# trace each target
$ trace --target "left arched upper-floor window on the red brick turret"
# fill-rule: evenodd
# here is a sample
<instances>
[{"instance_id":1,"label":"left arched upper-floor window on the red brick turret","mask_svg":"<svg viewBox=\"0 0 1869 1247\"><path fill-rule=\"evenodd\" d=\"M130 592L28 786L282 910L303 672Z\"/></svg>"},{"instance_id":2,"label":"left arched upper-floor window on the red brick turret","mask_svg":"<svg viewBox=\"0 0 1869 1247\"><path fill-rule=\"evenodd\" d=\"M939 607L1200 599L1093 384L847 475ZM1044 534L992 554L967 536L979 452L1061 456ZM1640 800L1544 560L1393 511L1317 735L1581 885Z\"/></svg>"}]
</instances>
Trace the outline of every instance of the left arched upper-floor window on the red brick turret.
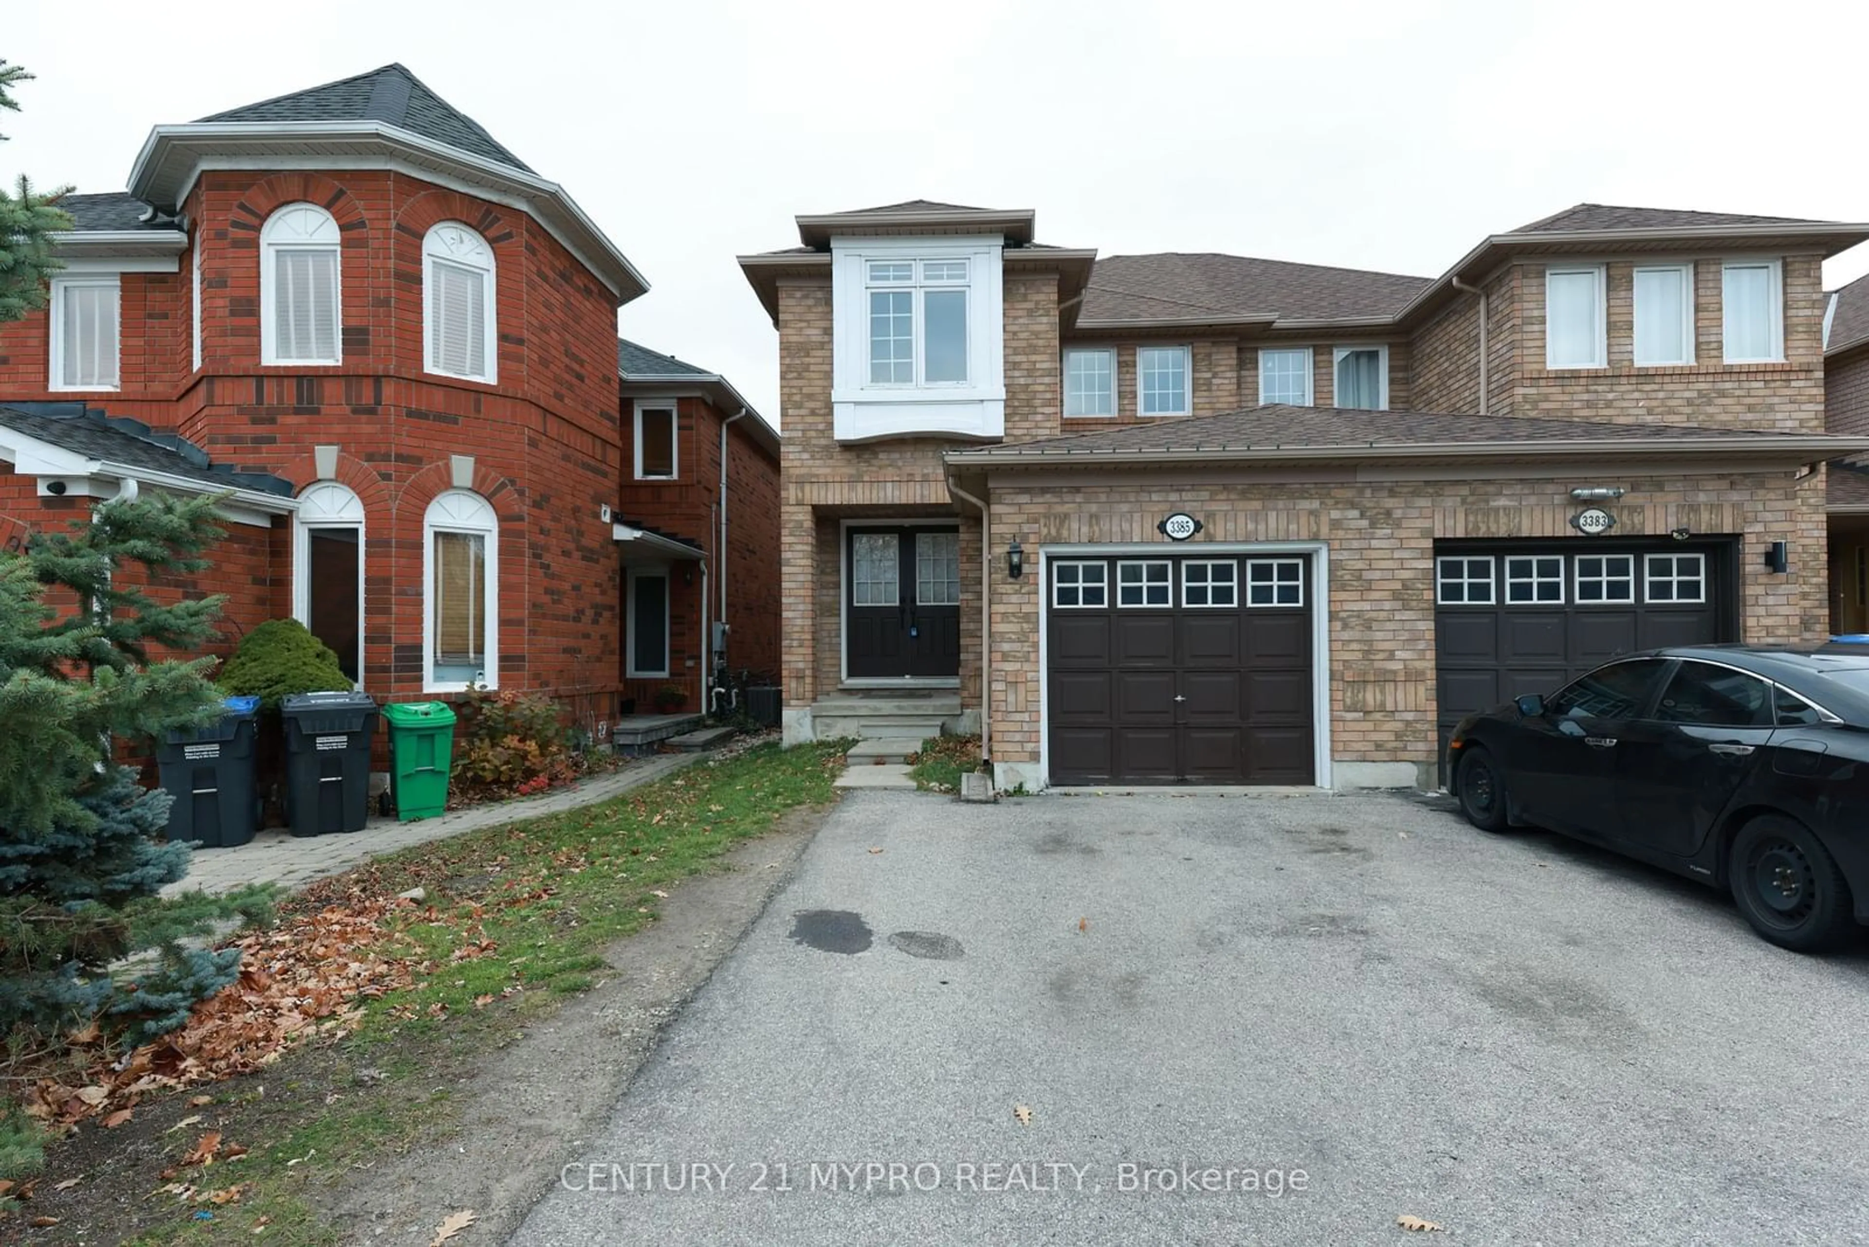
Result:
<instances>
[{"instance_id":1,"label":"left arched upper-floor window on the red brick turret","mask_svg":"<svg viewBox=\"0 0 1869 1247\"><path fill-rule=\"evenodd\" d=\"M338 222L288 204L260 228L260 363L342 363Z\"/></svg>"}]
</instances>

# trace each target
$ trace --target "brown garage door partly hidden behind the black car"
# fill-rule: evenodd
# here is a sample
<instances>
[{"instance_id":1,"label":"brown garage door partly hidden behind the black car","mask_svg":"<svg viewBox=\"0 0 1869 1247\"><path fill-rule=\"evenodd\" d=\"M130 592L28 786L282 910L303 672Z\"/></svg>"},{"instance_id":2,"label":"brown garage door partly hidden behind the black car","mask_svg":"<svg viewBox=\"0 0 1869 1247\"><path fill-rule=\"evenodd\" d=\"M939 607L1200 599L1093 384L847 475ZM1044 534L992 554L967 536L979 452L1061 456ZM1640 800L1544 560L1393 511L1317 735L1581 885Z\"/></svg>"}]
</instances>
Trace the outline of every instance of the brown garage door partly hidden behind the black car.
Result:
<instances>
[{"instance_id":1,"label":"brown garage door partly hidden behind the black car","mask_svg":"<svg viewBox=\"0 0 1869 1247\"><path fill-rule=\"evenodd\" d=\"M1463 716L1617 654L1736 639L1731 540L1437 542L1441 759ZM1443 776L1445 780L1445 776Z\"/></svg>"}]
</instances>

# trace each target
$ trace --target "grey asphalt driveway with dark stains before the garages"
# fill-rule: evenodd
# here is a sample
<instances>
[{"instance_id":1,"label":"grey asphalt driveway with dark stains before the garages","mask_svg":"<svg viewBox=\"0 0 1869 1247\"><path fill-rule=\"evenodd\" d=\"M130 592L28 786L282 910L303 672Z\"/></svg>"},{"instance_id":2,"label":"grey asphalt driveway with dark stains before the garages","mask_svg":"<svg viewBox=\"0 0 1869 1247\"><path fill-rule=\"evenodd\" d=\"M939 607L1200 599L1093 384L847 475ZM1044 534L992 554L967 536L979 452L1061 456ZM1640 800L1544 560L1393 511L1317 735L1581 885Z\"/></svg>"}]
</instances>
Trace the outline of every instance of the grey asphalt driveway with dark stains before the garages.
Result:
<instances>
[{"instance_id":1,"label":"grey asphalt driveway with dark stains before the garages","mask_svg":"<svg viewBox=\"0 0 1869 1247\"><path fill-rule=\"evenodd\" d=\"M1428 800L852 793L514 1241L1856 1243L1865 989Z\"/></svg>"}]
</instances>

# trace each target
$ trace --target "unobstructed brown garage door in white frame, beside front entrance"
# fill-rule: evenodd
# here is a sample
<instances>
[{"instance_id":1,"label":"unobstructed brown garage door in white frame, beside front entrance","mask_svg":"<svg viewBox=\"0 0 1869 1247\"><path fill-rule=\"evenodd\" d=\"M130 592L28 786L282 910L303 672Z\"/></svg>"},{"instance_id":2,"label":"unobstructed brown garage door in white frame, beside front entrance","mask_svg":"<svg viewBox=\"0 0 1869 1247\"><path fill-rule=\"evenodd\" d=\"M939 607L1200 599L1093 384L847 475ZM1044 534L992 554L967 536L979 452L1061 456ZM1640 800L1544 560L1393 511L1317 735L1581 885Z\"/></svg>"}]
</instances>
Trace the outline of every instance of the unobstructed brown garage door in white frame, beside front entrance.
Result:
<instances>
[{"instance_id":1,"label":"unobstructed brown garage door in white frame, beside front entrance","mask_svg":"<svg viewBox=\"0 0 1869 1247\"><path fill-rule=\"evenodd\" d=\"M1312 783L1305 555L1049 557L1052 783Z\"/></svg>"}]
</instances>

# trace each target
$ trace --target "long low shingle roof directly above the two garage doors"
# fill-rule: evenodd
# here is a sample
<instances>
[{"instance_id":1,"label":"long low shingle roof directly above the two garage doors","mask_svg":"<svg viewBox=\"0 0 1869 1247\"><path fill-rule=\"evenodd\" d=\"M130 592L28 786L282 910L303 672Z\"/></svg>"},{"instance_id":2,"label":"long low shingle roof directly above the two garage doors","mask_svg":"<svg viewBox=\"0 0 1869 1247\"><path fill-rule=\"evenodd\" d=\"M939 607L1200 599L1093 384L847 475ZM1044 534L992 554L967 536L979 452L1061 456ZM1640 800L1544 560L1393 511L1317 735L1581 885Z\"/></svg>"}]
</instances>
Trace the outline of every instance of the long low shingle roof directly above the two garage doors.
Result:
<instances>
[{"instance_id":1,"label":"long low shingle roof directly above the two garage doors","mask_svg":"<svg viewBox=\"0 0 1869 1247\"><path fill-rule=\"evenodd\" d=\"M1676 441L1686 437L1761 437L1742 428L1684 424L1604 424L1432 411L1349 411L1267 404L1226 415L1125 424L1073 437L991 447L976 454L1148 454L1155 451L1271 451L1293 447L1405 447L1484 441ZM1781 434L1794 437L1798 434ZM966 452L955 458L964 460Z\"/></svg>"}]
</instances>

